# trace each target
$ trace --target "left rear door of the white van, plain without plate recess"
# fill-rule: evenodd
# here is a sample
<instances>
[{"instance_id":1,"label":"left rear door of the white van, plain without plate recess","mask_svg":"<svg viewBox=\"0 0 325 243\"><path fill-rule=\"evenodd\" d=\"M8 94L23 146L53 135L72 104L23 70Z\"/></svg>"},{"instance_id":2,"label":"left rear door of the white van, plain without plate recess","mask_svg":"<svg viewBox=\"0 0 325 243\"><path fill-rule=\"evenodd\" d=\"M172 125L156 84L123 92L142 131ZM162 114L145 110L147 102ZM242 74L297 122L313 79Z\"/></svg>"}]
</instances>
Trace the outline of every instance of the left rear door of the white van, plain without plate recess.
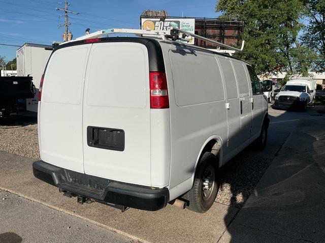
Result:
<instances>
[{"instance_id":1,"label":"left rear door of the white van, plain without plate recess","mask_svg":"<svg viewBox=\"0 0 325 243\"><path fill-rule=\"evenodd\" d=\"M82 45L53 53L38 114L41 159L80 173L84 173L82 91L89 50L90 45Z\"/></svg>"}]
</instances>

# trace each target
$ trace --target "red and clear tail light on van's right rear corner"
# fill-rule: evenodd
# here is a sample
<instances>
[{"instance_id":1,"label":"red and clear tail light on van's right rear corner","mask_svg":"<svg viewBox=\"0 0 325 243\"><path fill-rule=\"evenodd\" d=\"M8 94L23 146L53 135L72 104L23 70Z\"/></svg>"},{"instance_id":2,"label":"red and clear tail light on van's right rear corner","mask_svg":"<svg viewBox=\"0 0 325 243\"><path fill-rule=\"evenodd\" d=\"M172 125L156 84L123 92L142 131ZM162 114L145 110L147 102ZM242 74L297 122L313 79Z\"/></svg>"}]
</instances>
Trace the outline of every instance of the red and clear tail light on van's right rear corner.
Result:
<instances>
[{"instance_id":1,"label":"red and clear tail light on van's right rear corner","mask_svg":"<svg viewBox=\"0 0 325 243\"><path fill-rule=\"evenodd\" d=\"M150 108L169 108L167 79L165 72L150 72Z\"/></svg>"}]
</instances>

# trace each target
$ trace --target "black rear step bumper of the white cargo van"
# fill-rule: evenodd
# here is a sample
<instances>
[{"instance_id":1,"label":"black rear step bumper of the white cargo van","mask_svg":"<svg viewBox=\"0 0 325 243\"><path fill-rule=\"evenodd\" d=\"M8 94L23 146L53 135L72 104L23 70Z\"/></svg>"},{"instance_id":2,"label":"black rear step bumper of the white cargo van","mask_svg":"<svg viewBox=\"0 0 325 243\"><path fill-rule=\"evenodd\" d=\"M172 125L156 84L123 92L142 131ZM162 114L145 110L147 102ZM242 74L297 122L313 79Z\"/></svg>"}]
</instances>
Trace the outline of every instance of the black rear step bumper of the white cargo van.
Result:
<instances>
[{"instance_id":1,"label":"black rear step bumper of the white cargo van","mask_svg":"<svg viewBox=\"0 0 325 243\"><path fill-rule=\"evenodd\" d=\"M45 163L32 164L34 176L73 196L95 199L100 203L156 211L169 201L167 188L154 188L90 176Z\"/></svg>"}]
</instances>

